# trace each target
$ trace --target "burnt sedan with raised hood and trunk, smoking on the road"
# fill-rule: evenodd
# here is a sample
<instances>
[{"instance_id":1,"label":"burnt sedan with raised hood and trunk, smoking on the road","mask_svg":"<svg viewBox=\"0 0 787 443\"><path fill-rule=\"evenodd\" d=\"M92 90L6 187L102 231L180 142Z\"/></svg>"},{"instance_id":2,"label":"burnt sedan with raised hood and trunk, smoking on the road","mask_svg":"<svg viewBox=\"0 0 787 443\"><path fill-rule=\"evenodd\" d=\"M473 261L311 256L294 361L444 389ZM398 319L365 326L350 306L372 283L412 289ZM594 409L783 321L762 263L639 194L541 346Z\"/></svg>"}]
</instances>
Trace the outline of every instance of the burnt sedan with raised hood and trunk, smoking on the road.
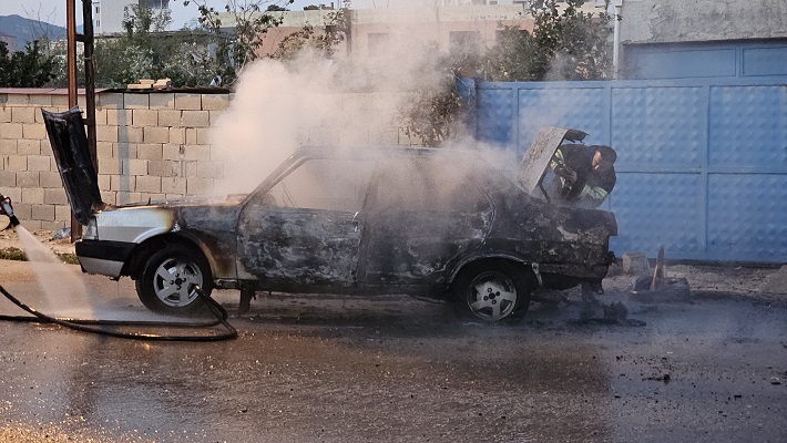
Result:
<instances>
[{"instance_id":1,"label":"burnt sedan with raised hood and trunk, smoking on the road","mask_svg":"<svg viewBox=\"0 0 787 443\"><path fill-rule=\"evenodd\" d=\"M519 179L476 152L297 148L247 195L112 206L101 200L78 109L43 111L74 215L82 270L136 281L159 312L200 307L197 287L448 298L486 321L522 316L536 288L594 288L614 256L614 215L561 207L540 183L549 127Z\"/></svg>"}]
</instances>

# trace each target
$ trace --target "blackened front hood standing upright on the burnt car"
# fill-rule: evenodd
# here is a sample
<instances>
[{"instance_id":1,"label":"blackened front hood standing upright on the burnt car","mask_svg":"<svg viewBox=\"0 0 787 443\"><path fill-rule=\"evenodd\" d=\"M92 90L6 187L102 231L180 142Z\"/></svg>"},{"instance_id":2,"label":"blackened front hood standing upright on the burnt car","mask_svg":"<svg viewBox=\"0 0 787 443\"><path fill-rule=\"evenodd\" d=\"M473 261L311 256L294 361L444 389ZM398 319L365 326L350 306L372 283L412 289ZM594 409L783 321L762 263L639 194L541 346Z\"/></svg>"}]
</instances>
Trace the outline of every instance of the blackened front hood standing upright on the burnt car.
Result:
<instances>
[{"instance_id":1,"label":"blackened front hood standing upright on the burnt car","mask_svg":"<svg viewBox=\"0 0 787 443\"><path fill-rule=\"evenodd\" d=\"M88 146L82 112L74 106L65 112L41 110L41 113L71 209L76 220L86 225L93 213L104 207L104 203Z\"/></svg>"}]
</instances>

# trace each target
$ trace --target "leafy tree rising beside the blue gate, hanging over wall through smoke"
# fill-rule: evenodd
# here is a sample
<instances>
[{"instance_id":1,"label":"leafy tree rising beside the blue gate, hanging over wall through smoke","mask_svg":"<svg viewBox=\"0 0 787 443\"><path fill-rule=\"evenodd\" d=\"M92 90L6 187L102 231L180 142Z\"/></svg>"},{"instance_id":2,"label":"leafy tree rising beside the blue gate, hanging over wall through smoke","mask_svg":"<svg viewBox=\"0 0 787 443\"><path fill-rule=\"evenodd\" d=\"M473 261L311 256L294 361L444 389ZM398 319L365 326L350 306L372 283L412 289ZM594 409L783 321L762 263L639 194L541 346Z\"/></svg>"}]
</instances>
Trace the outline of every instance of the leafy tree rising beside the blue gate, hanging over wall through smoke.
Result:
<instances>
[{"instance_id":1,"label":"leafy tree rising beside the blue gate, hanging over wall through smoke","mask_svg":"<svg viewBox=\"0 0 787 443\"><path fill-rule=\"evenodd\" d=\"M423 145L437 146L463 126L468 104L459 97L459 76L491 81L609 79L612 18L605 12L582 12L582 4L584 0L560 4L556 0L530 0L532 32L504 27L498 42L486 53L452 48L449 56L439 59L433 66L442 79L432 87L413 91L403 104L405 133Z\"/></svg>"}]
</instances>

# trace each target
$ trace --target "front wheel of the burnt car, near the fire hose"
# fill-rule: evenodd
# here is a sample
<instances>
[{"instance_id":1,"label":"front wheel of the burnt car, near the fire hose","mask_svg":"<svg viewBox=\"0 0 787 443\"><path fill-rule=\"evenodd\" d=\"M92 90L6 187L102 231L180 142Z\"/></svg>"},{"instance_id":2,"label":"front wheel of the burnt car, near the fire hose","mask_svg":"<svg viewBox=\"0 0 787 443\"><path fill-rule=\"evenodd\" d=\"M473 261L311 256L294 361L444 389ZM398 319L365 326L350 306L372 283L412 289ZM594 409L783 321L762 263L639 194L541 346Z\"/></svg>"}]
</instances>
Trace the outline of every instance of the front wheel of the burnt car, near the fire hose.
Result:
<instances>
[{"instance_id":1,"label":"front wheel of the burnt car, near the fire hose","mask_svg":"<svg viewBox=\"0 0 787 443\"><path fill-rule=\"evenodd\" d=\"M205 307L198 300L197 286L206 296L213 290L205 256L196 248L166 245L145 261L136 295L154 312L187 315Z\"/></svg>"}]
</instances>

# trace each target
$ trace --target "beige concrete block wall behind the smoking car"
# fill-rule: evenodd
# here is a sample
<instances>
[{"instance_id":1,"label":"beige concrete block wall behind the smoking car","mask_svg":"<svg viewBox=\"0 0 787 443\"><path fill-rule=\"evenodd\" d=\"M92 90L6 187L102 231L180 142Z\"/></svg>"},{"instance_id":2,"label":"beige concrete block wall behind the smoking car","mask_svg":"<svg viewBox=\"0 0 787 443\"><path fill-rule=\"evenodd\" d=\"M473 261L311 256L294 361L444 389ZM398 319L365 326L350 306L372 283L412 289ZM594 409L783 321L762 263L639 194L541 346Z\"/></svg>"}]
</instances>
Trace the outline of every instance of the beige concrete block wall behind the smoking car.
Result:
<instances>
[{"instance_id":1,"label":"beige concrete block wall behind the smoking car","mask_svg":"<svg viewBox=\"0 0 787 443\"><path fill-rule=\"evenodd\" d=\"M68 95L30 91L0 90L0 194L11 197L16 215L27 229L58 230L71 225L71 208L41 109L67 111ZM356 110L348 113L356 119L352 122L334 120L303 127L297 143L415 143L390 119L379 116L390 115L390 107L401 96L336 94L333 100L337 109L375 110L362 112L364 122L357 121ZM103 200L122 205L208 194L225 174L217 161L217 147L208 144L208 130L228 109L232 97L180 92L96 94L96 156ZM84 96L79 97L79 105L85 109Z\"/></svg>"}]
</instances>

